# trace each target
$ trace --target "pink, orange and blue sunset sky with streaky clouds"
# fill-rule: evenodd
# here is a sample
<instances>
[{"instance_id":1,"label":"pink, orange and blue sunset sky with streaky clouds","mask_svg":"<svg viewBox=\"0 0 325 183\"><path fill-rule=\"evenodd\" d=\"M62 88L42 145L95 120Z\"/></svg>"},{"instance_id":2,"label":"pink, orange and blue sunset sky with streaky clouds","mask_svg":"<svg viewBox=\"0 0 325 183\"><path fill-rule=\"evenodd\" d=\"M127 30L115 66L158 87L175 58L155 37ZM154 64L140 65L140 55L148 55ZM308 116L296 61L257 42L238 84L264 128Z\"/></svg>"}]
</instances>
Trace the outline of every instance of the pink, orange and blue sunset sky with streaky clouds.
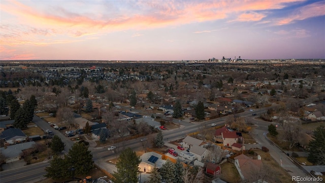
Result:
<instances>
[{"instance_id":1,"label":"pink, orange and blue sunset sky with streaky clouds","mask_svg":"<svg viewBox=\"0 0 325 183\"><path fill-rule=\"evenodd\" d=\"M325 1L4 1L0 60L325 58Z\"/></svg>"}]
</instances>

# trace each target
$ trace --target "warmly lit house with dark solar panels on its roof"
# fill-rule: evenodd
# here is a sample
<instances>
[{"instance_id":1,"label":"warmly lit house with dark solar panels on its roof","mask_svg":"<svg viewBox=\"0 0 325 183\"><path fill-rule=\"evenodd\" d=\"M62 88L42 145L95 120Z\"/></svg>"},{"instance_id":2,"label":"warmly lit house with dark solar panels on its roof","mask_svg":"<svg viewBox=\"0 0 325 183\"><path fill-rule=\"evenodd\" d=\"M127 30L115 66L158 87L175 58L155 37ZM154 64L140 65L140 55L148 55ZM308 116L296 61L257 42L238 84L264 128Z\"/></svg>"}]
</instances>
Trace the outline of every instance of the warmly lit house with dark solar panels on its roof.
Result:
<instances>
[{"instance_id":1,"label":"warmly lit house with dark solar panels on its roof","mask_svg":"<svg viewBox=\"0 0 325 183\"><path fill-rule=\"evenodd\" d=\"M166 160L161 159L163 155L160 155L155 152L144 153L140 159L141 163L139 164L139 171L150 173L154 166L156 168L161 168L166 162Z\"/></svg>"}]
</instances>

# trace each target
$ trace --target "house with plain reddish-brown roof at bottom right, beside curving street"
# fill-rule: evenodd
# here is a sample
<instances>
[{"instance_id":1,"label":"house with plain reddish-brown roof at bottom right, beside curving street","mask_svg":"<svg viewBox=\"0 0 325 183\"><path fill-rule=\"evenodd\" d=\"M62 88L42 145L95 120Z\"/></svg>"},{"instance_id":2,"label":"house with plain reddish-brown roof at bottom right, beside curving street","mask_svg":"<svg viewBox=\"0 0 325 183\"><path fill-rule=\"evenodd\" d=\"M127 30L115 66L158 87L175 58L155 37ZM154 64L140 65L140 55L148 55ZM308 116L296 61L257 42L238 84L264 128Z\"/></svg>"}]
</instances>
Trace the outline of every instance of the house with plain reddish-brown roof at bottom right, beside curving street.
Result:
<instances>
[{"instance_id":1,"label":"house with plain reddish-brown roof at bottom right, beside curving street","mask_svg":"<svg viewBox=\"0 0 325 183\"><path fill-rule=\"evenodd\" d=\"M239 155L235 157L235 167L242 179L253 178L254 174L262 168L261 156L258 155L257 160L253 160L246 155Z\"/></svg>"}]
</instances>

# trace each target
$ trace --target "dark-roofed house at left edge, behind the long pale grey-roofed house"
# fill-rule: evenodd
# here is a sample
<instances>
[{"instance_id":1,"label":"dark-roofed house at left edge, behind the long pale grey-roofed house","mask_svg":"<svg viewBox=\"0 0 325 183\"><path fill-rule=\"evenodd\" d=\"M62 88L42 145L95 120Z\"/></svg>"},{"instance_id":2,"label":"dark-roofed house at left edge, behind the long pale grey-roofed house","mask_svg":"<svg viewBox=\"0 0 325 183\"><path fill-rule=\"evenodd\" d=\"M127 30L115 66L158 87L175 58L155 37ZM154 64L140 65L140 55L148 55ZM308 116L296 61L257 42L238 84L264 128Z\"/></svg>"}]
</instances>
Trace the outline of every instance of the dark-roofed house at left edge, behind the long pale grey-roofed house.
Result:
<instances>
[{"instance_id":1,"label":"dark-roofed house at left edge, behind the long pale grey-roofed house","mask_svg":"<svg viewBox=\"0 0 325 183\"><path fill-rule=\"evenodd\" d=\"M6 140L9 144L24 142L26 138L27 136L20 129L16 128L4 130L0 135L0 139Z\"/></svg>"}]
</instances>

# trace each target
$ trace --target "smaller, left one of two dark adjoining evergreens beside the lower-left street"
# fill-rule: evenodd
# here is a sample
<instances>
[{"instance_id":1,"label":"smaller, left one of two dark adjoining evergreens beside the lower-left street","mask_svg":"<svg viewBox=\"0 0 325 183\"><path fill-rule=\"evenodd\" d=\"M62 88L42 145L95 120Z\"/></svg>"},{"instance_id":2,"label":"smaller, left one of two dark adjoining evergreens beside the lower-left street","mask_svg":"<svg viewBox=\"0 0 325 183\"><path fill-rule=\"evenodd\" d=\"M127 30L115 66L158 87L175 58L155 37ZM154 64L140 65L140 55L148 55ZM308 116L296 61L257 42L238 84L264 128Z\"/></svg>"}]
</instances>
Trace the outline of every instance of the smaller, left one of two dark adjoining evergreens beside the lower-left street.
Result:
<instances>
[{"instance_id":1,"label":"smaller, left one of two dark adjoining evergreens beside the lower-left street","mask_svg":"<svg viewBox=\"0 0 325 183\"><path fill-rule=\"evenodd\" d=\"M50 161L50 166L45 167L46 177L56 179L67 178L69 174L67 170L69 169L69 164L66 159L54 156Z\"/></svg>"}]
</instances>

